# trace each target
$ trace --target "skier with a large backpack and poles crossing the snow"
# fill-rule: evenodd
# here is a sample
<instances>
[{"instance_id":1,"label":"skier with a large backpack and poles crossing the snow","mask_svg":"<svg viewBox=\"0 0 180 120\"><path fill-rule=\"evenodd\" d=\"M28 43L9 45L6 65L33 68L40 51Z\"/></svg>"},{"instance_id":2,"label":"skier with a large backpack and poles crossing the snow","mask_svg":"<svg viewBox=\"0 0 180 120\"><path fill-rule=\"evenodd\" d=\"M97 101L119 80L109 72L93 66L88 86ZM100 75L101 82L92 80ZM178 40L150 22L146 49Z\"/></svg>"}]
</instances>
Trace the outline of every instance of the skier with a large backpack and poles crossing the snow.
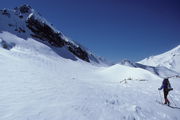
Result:
<instances>
[{"instance_id":1,"label":"skier with a large backpack and poles crossing the snow","mask_svg":"<svg viewBox=\"0 0 180 120\"><path fill-rule=\"evenodd\" d=\"M171 87L171 84L168 80L168 78L165 78L162 82L162 85L160 88L158 88L158 90L162 90L164 92L164 104L167 104L168 106L170 105L170 102L167 98L169 91L173 90L173 88Z\"/></svg>"}]
</instances>

